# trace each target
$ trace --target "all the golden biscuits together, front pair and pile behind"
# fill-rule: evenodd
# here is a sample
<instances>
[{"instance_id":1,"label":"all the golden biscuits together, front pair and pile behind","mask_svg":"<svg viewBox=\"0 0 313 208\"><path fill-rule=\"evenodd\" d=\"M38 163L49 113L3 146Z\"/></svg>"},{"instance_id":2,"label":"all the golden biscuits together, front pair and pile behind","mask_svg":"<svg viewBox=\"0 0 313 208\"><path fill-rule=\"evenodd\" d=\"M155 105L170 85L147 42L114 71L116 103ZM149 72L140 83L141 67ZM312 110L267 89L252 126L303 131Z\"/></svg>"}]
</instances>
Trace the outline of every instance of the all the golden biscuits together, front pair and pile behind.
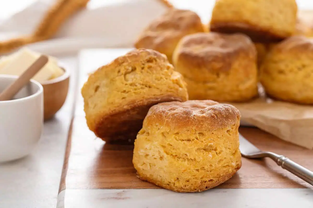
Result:
<instances>
[{"instance_id":1,"label":"all the golden biscuits together, front pair and pile behind","mask_svg":"<svg viewBox=\"0 0 313 208\"><path fill-rule=\"evenodd\" d=\"M207 28L210 28L208 31ZM313 41L295 0L219 0L203 26L170 8L137 49L90 75L82 88L88 127L106 142L134 143L140 179L204 191L241 167L240 113L258 97L313 104Z\"/></svg>"}]
</instances>

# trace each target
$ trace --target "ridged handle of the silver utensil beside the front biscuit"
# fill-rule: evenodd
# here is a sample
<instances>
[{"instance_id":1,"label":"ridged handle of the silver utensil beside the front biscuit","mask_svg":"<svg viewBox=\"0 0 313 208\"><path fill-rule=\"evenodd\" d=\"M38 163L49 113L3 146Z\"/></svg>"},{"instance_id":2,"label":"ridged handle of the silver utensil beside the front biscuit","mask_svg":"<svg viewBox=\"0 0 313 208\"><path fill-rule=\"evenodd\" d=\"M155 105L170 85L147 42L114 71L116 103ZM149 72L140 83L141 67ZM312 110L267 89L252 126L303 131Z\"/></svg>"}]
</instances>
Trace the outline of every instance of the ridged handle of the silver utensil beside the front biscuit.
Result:
<instances>
[{"instance_id":1,"label":"ridged handle of the silver utensil beside the front biscuit","mask_svg":"<svg viewBox=\"0 0 313 208\"><path fill-rule=\"evenodd\" d=\"M277 165L281 166L282 168L293 173L294 175L298 176L302 180L313 185L313 172L312 171L306 169L305 167L299 165L298 163L293 162L288 157L285 157L283 155L274 154L274 157L275 158L273 157L271 158L275 160Z\"/></svg>"}]
</instances>

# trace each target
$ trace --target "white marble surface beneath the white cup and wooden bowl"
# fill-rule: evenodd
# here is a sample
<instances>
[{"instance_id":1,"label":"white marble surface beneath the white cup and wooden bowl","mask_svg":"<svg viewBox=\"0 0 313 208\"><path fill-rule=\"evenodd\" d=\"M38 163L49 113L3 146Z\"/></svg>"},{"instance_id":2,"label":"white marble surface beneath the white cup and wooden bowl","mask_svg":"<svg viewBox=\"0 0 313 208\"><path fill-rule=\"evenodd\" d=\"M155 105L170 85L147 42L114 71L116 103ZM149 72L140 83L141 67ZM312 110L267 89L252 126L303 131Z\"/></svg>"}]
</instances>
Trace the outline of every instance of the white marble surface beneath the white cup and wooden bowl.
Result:
<instances>
[{"instance_id":1,"label":"white marble surface beneath the white cup and wooden bowl","mask_svg":"<svg viewBox=\"0 0 313 208\"><path fill-rule=\"evenodd\" d=\"M71 71L67 100L55 118L44 123L43 135L31 155L0 163L1 208L56 207L77 69L75 57L61 61Z\"/></svg>"}]
</instances>

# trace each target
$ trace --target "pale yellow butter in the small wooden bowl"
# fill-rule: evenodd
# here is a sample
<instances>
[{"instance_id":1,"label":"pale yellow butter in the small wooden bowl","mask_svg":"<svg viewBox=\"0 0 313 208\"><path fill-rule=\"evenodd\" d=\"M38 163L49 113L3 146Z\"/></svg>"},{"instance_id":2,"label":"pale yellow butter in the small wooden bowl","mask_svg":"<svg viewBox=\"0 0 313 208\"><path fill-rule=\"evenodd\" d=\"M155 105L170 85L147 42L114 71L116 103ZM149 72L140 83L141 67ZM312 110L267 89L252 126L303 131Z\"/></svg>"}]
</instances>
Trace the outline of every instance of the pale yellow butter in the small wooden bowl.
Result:
<instances>
[{"instance_id":1,"label":"pale yellow butter in the small wooden bowl","mask_svg":"<svg viewBox=\"0 0 313 208\"><path fill-rule=\"evenodd\" d=\"M0 74L21 75L35 60L40 56L39 53L23 48L0 59ZM48 63L33 77L36 81L45 81L57 78L64 74L64 71L58 67L57 61L49 57Z\"/></svg>"}]
</instances>

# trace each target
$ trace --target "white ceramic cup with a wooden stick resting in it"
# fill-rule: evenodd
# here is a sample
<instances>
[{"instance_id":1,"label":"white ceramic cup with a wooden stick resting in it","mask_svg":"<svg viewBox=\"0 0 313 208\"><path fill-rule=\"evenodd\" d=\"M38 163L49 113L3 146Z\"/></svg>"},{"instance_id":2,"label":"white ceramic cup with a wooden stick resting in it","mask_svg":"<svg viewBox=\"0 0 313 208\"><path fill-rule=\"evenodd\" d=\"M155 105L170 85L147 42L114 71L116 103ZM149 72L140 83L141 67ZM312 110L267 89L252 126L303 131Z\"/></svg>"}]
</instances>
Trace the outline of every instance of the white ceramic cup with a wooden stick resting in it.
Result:
<instances>
[{"instance_id":1,"label":"white ceramic cup with a wooden stick resting in it","mask_svg":"<svg viewBox=\"0 0 313 208\"><path fill-rule=\"evenodd\" d=\"M17 76L0 75L0 92ZM28 155L37 145L44 121L43 87L31 80L8 101L0 101L0 162Z\"/></svg>"}]
</instances>

